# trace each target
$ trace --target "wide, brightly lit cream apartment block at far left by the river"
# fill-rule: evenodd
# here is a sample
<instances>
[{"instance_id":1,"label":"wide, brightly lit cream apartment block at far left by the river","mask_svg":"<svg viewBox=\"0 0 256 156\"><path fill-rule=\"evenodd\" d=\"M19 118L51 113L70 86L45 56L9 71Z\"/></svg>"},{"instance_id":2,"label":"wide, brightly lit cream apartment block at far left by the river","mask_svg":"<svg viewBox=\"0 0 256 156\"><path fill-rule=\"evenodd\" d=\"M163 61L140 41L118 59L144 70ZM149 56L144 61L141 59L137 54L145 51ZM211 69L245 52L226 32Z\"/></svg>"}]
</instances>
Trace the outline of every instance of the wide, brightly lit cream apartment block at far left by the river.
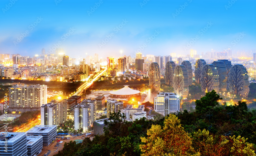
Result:
<instances>
[{"instance_id":1,"label":"wide, brightly lit cream apartment block at far left by the river","mask_svg":"<svg viewBox=\"0 0 256 156\"><path fill-rule=\"evenodd\" d=\"M47 103L47 86L31 85L9 88L9 108L40 108ZM15 110L14 110L15 111Z\"/></svg>"}]
</instances>

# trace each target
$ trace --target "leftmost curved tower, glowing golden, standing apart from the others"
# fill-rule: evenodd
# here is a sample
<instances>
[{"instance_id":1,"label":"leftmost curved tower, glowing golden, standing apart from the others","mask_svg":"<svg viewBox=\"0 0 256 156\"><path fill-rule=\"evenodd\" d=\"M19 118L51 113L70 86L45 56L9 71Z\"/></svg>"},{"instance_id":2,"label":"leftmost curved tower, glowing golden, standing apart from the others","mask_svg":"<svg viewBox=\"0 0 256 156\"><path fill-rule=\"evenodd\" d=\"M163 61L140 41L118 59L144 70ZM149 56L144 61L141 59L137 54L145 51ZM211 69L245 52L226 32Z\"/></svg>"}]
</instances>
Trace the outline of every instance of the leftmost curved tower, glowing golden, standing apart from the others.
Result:
<instances>
[{"instance_id":1,"label":"leftmost curved tower, glowing golden, standing apart from the others","mask_svg":"<svg viewBox=\"0 0 256 156\"><path fill-rule=\"evenodd\" d=\"M157 62L152 62L149 67L149 85L150 87L155 88L156 90L160 89L160 68Z\"/></svg>"}]
</instances>

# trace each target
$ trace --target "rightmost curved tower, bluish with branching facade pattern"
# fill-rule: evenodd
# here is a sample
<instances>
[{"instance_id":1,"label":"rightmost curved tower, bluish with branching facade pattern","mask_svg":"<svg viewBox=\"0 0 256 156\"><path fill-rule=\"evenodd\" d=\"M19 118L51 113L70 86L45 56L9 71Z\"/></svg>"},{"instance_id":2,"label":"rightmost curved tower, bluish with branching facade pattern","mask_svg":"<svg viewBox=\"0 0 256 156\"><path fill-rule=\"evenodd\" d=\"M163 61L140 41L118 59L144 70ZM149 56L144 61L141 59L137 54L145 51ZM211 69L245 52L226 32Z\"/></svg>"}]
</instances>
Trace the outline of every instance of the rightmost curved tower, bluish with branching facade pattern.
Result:
<instances>
[{"instance_id":1,"label":"rightmost curved tower, bluish with branching facade pattern","mask_svg":"<svg viewBox=\"0 0 256 156\"><path fill-rule=\"evenodd\" d=\"M235 64L229 71L229 91L242 97L247 97L249 89L249 75L246 68L241 64Z\"/></svg>"}]
</instances>

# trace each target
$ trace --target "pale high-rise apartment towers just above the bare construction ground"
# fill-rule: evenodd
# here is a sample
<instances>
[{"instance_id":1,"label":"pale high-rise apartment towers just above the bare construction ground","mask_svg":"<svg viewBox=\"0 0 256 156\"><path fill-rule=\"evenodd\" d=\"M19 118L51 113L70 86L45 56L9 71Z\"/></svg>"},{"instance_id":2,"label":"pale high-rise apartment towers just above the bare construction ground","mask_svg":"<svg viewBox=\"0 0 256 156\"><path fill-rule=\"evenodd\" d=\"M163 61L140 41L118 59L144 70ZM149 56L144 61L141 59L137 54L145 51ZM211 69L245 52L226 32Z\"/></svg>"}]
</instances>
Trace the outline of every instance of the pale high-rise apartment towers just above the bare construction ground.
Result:
<instances>
[{"instance_id":1,"label":"pale high-rise apartment towers just above the bare construction ground","mask_svg":"<svg viewBox=\"0 0 256 156\"><path fill-rule=\"evenodd\" d=\"M89 131L95 119L96 100L84 99L74 108L74 130Z\"/></svg>"}]
</instances>

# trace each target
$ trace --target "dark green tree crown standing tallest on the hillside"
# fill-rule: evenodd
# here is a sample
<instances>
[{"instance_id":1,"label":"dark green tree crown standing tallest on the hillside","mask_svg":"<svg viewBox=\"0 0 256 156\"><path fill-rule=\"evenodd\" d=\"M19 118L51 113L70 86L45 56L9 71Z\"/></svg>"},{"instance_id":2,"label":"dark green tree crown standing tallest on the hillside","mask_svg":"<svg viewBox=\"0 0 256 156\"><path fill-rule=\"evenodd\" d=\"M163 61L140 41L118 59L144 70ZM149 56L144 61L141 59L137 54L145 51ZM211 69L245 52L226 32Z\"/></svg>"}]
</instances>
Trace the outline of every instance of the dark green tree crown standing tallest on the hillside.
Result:
<instances>
[{"instance_id":1,"label":"dark green tree crown standing tallest on the hillside","mask_svg":"<svg viewBox=\"0 0 256 156\"><path fill-rule=\"evenodd\" d=\"M220 95L215 90L212 90L201 97L200 100L196 100L196 111L204 113L212 107L219 105L218 100L222 100L222 98L220 98Z\"/></svg>"}]
</instances>

